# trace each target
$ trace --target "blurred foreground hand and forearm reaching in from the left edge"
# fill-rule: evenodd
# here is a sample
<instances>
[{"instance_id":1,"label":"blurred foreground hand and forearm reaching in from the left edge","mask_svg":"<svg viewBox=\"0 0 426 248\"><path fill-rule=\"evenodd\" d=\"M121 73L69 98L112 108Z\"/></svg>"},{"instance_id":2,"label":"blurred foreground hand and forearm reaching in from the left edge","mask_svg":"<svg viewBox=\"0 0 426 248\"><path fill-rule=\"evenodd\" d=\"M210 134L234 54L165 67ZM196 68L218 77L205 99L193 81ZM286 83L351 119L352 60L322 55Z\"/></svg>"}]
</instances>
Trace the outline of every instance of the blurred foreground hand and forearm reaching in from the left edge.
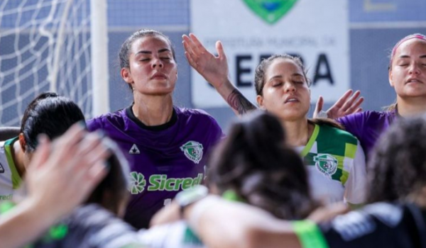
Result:
<instances>
[{"instance_id":1,"label":"blurred foreground hand and forearm reaching in from the left edge","mask_svg":"<svg viewBox=\"0 0 426 248\"><path fill-rule=\"evenodd\" d=\"M82 203L107 174L109 154L99 135L80 125L53 144L40 139L26 174L28 197L0 215L1 247L23 247Z\"/></svg>"}]
</instances>

